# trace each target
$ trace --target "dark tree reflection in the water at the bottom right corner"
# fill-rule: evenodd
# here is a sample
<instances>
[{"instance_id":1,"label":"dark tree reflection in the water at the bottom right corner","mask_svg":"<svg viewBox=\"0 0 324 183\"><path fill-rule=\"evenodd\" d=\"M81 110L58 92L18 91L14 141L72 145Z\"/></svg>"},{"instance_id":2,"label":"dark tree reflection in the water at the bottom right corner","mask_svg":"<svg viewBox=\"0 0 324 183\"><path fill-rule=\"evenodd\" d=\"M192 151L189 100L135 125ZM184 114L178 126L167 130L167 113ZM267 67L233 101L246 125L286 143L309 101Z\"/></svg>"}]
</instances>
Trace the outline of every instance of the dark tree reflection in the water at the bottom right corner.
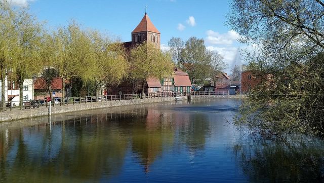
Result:
<instances>
[{"instance_id":1,"label":"dark tree reflection in the water at the bottom right corner","mask_svg":"<svg viewBox=\"0 0 324 183\"><path fill-rule=\"evenodd\" d=\"M251 182L323 182L323 150L323 140L308 137L234 147Z\"/></svg>"}]
</instances>

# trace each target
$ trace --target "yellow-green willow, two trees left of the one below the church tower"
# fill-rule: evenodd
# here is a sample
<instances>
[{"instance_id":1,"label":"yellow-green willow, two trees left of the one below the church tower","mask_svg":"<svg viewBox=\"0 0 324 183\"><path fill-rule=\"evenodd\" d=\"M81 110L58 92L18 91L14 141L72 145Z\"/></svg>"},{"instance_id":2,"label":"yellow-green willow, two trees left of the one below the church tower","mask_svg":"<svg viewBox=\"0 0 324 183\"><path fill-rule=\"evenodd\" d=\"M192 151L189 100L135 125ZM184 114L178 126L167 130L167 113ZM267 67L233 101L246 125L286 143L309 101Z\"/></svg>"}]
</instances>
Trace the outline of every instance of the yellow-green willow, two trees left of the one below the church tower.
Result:
<instances>
[{"instance_id":1,"label":"yellow-green willow, two trees left of the one below the church tower","mask_svg":"<svg viewBox=\"0 0 324 183\"><path fill-rule=\"evenodd\" d=\"M72 21L67 27L59 27L47 40L50 46L49 66L58 71L62 80L62 97L65 96L65 80L72 77L91 81L94 56L91 54L91 40L80 26Z\"/></svg>"}]
</instances>

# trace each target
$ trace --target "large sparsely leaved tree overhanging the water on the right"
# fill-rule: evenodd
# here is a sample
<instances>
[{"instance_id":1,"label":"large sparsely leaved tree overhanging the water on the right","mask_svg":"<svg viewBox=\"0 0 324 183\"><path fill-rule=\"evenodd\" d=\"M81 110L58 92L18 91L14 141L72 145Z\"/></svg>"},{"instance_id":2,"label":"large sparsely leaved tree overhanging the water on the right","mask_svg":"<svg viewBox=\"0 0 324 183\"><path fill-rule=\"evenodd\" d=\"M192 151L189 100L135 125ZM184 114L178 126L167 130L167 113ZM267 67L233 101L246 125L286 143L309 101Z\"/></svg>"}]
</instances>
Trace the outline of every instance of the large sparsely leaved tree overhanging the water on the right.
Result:
<instances>
[{"instance_id":1,"label":"large sparsely leaved tree overhanging the water on the right","mask_svg":"<svg viewBox=\"0 0 324 183\"><path fill-rule=\"evenodd\" d=\"M227 23L241 42L257 45L246 58L249 70L261 76L236 122L267 136L324 134L324 3L234 0L231 8Z\"/></svg>"}]
</instances>

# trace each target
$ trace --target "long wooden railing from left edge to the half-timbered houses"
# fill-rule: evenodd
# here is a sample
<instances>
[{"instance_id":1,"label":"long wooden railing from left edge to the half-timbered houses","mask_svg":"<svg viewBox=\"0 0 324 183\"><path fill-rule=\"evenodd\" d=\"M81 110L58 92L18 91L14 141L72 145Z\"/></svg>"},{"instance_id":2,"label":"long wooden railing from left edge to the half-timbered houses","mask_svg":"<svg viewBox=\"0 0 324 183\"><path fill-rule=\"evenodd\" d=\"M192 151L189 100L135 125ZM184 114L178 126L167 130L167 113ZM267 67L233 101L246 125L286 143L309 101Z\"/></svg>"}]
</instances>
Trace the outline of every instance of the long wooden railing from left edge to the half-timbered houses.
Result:
<instances>
[{"instance_id":1,"label":"long wooden railing from left edge to the half-timbered houses","mask_svg":"<svg viewBox=\"0 0 324 183\"><path fill-rule=\"evenodd\" d=\"M50 101L52 106L63 106L63 105L77 105L82 103L92 102L108 102L117 100L136 100L145 98L163 98L163 97L176 97L176 96L187 96L190 95L186 92L151 92L151 93L140 93L140 94L120 94L120 95L101 95L101 96L84 96L84 97L65 97L62 100L61 97L45 98L42 100L23 100L23 105L20 104L20 100L6 101L5 107L0 107L1 111L12 111L18 109L31 109L39 107L48 107ZM2 103L0 101L0 103ZM0 105L1 106L1 105Z\"/></svg>"}]
</instances>

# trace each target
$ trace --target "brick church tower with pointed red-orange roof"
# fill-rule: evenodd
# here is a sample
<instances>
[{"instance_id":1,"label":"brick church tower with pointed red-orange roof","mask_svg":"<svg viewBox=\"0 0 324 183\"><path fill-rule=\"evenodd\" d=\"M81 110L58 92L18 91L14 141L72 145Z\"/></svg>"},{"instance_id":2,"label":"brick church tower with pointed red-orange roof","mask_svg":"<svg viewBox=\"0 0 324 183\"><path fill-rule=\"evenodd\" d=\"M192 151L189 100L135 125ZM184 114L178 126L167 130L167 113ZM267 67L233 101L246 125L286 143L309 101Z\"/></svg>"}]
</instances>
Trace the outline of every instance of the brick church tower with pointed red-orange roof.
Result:
<instances>
[{"instance_id":1,"label":"brick church tower with pointed red-orange roof","mask_svg":"<svg viewBox=\"0 0 324 183\"><path fill-rule=\"evenodd\" d=\"M153 43L155 48L160 49L160 32L148 18L146 12L141 22L132 31L132 45L141 44L144 41Z\"/></svg>"}]
</instances>

